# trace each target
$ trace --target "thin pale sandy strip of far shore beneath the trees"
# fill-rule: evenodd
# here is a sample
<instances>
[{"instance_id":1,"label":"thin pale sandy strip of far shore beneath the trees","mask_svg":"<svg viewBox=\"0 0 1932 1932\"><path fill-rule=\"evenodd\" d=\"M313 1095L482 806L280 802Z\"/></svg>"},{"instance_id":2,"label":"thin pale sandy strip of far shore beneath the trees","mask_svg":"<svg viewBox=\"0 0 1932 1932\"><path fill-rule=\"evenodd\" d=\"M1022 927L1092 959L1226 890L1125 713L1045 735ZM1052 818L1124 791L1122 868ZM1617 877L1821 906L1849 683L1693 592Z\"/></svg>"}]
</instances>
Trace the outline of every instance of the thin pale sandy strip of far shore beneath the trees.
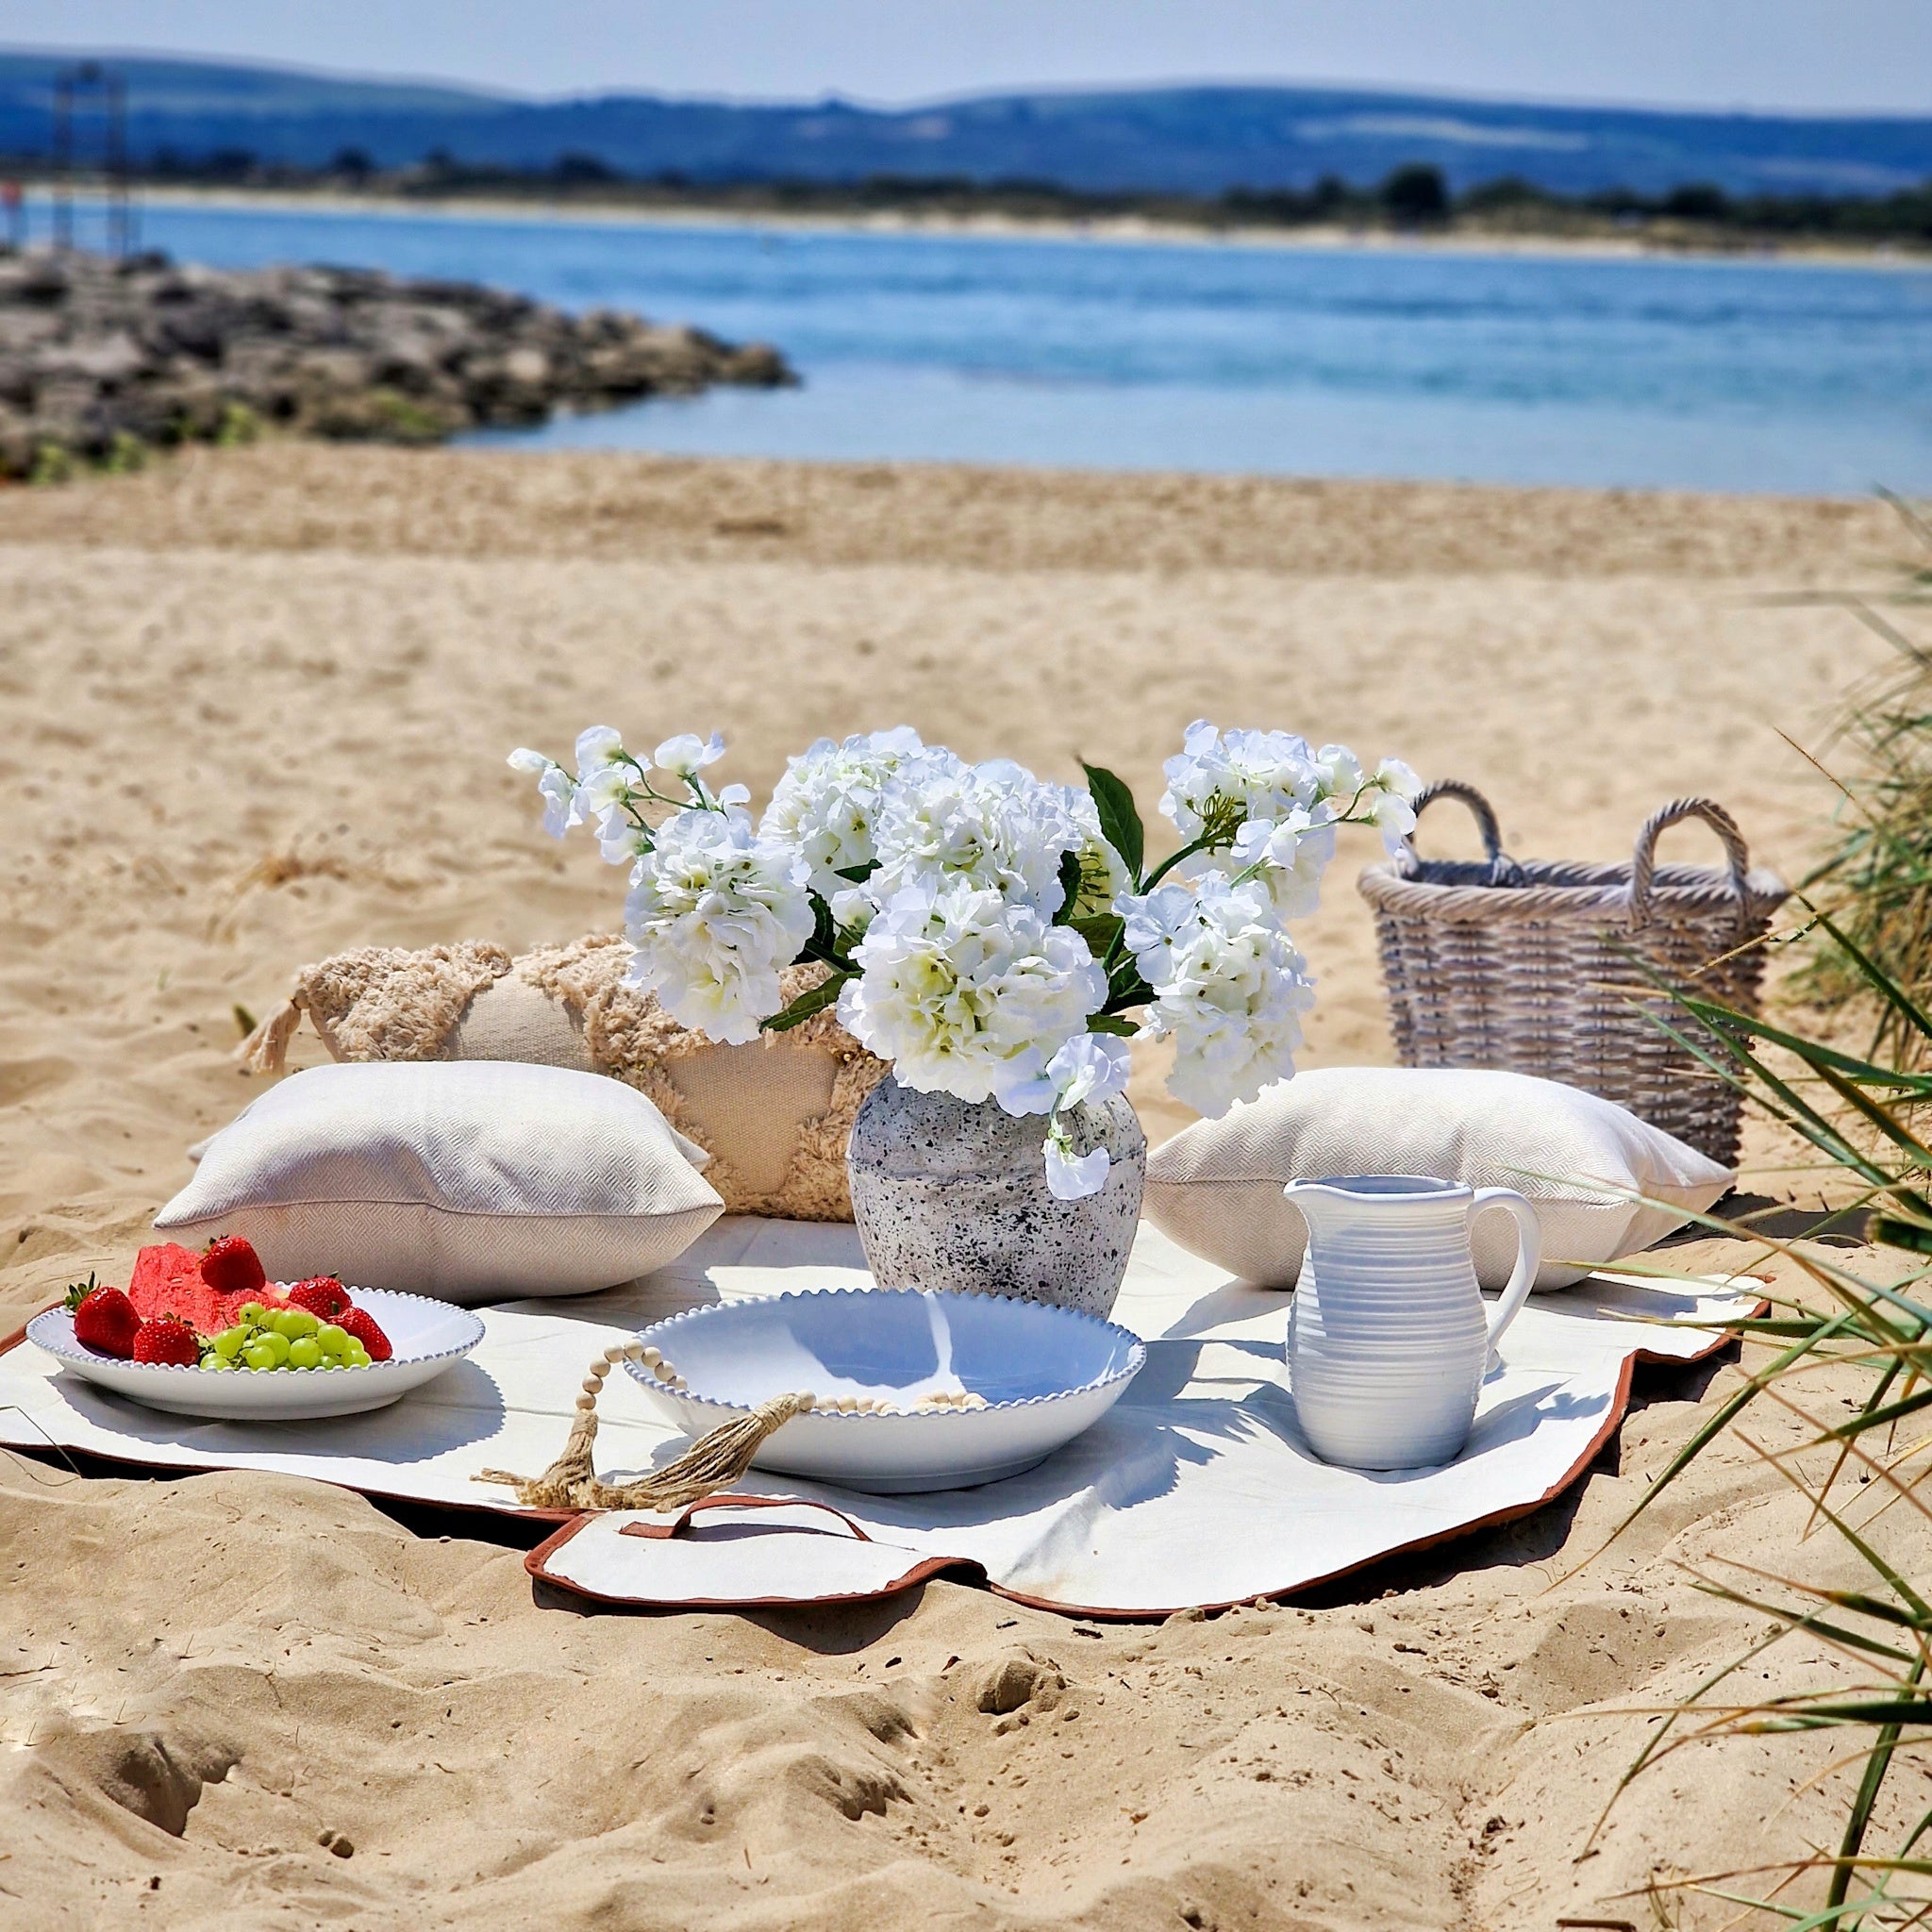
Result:
<instances>
[{"instance_id":1,"label":"thin pale sandy strip of far shore beneath the trees","mask_svg":"<svg viewBox=\"0 0 1932 1932\"><path fill-rule=\"evenodd\" d=\"M91 189L99 195L99 189ZM947 214L881 209L850 214L786 213L779 209L734 209L723 203L694 207L626 207L518 195L444 195L404 199L400 195L354 195L342 191L230 189L230 187L137 187L141 207L259 211L288 214L336 214L400 220L495 220L553 226L570 222L585 228L742 228L796 234L850 236L933 236L941 240L985 242L1088 242L1095 245L1159 247L1246 247L1300 253L1389 253L1389 255L1503 255L1548 257L1557 261L1633 263L1735 263L1750 267L1791 265L1816 269L1932 269L1932 249L1905 249L1891 243L1851 247L1845 243L1748 243L1739 247L1656 245L1636 236L1555 236L1555 234L1395 234L1341 224L1306 228L1229 228L1209 230L1190 222L1161 222L1140 214L1111 214L1092 220L1030 218L1016 214ZM29 209L46 209L46 191L27 195Z\"/></svg>"}]
</instances>

